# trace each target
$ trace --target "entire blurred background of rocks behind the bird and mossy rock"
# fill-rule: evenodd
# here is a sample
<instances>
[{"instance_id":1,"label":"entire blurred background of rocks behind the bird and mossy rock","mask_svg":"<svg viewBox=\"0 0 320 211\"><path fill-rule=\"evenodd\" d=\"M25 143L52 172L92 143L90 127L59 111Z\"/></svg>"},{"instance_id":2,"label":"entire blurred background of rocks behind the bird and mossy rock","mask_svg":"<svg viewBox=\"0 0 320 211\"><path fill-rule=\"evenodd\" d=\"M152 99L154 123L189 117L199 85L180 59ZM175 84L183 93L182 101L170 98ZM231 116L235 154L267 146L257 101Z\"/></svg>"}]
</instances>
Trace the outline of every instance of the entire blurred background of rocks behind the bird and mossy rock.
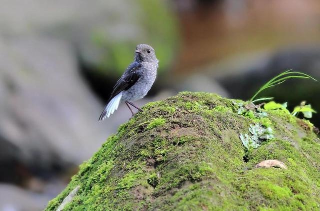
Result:
<instances>
[{"instance_id":1,"label":"entire blurred background of rocks behind the bird and mossy rock","mask_svg":"<svg viewBox=\"0 0 320 211\"><path fill-rule=\"evenodd\" d=\"M45 208L119 124L97 119L136 44L155 49L147 97L206 91L249 99L287 69L320 79L318 0L0 0L0 211ZM259 96L318 111L320 83Z\"/></svg>"}]
</instances>

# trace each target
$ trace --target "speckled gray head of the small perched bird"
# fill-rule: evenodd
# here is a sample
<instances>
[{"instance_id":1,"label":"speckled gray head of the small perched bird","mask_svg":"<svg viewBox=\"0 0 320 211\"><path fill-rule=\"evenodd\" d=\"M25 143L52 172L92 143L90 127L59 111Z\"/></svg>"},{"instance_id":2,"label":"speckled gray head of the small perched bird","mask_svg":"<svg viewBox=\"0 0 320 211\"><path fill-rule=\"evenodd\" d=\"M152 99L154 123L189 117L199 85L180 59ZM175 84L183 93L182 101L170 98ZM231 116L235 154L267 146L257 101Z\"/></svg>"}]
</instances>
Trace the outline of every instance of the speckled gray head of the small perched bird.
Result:
<instances>
[{"instance_id":1,"label":"speckled gray head of the small perched bird","mask_svg":"<svg viewBox=\"0 0 320 211\"><path fill-rule=\"evenodd\" d=\"M150 45L138 44L135 49L134 60L138 62L154 62L158 63L155 52Z\"/></svg>"}]
</instances>

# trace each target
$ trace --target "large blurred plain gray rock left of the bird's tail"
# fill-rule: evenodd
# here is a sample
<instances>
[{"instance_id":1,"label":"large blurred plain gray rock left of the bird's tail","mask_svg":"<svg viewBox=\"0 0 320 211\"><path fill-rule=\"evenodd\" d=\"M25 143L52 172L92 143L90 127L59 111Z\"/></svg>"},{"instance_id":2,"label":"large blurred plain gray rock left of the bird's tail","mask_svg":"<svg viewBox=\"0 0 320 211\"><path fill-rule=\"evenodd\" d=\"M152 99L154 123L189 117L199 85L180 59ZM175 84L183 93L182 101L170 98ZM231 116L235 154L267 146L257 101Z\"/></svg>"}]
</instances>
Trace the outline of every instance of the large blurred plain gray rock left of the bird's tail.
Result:
<instances>
[{"instance_id":1,"label":"large blurred plain gray rock left of the bird's tail","mask_svg":"<svg viewBox=\"0 0 320 211\"><path fill-rule=\"evenodd\" d=\"M44 170L76 165L113 132L98 125L101 105L66 42L0 39L0 69L0 165Z\"/></svg>"}]
</instances>

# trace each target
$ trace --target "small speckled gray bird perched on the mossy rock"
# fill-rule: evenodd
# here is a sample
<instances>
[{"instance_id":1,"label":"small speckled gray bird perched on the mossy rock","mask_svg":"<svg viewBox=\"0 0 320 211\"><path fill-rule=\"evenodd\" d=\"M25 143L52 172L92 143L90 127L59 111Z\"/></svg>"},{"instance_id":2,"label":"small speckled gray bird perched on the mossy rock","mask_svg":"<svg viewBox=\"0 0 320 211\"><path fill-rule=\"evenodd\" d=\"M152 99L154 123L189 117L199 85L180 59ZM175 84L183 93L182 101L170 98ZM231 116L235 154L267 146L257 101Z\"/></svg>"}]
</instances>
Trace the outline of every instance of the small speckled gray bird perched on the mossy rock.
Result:
<instances>
[{"instance_id":1,"label":"small speckled gray bird perched on the mossy rock","mask_svg":"<svg viewBox=\"0 0 320 211\"><path fill-rule=\"evenodd\" d=\"M134 52L134 61L126 68L123 75L114 85L99 121L113 114L121 102L127 105L132 116L133 112L129 105L138 111L142 111L132 101L143 98L150 90L155 80L159 60L155 57L153 48L147 44L137 45Z\"/></svg>"}]
</instances>

